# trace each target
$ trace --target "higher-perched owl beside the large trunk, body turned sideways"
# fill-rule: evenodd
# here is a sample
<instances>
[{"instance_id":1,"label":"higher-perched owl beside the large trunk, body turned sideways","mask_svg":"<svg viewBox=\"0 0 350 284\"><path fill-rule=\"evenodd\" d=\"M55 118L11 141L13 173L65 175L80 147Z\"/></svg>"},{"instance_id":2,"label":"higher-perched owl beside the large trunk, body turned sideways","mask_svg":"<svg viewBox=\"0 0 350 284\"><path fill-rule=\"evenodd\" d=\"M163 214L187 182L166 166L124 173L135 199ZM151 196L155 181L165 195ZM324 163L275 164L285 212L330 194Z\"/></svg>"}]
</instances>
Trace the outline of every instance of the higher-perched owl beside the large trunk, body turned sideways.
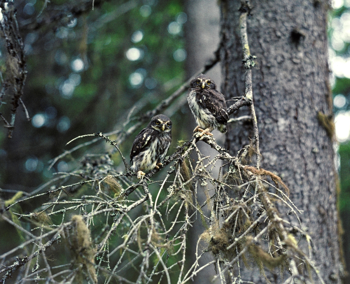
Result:
<instances>
[{"instance_id":1,"label":"higher-perched owl beside the large trunk, body turned sideways","mask_svg":"<svg viewBox=\"0 0 350 284\"><path fill-rule=\"evenodd\" d=\"M220 132L226 133L225 123L229 119L226 101L224 95L216 90L212 79L204 74L193 79L190 83L187 101L198 123L193 132L201 131L201 136L203 134L213 135L210 131L217 128Z\"/></svg>"}]
</instances>

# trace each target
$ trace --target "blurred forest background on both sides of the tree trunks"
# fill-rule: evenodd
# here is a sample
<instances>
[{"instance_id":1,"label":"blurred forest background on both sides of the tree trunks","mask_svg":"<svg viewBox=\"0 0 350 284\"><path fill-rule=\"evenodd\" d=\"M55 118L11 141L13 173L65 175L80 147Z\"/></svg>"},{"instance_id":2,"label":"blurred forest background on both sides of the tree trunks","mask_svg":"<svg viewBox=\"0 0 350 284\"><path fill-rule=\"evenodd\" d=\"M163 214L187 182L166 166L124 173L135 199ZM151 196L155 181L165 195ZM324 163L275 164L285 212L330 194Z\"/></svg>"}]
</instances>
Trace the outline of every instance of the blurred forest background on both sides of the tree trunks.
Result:
<instances>
[{"instance_id":1,"label":"blurred forest background on both sides of the tree trunks","mask_svg":"<svg viewBox=\"0 0 350 284\"><path fill-rule=\"evenodd\" d=\"M192 64L195 50L188 50L187 44L194 37L188 24L194 19L185 13L186 1L96 0L93 4L92 1L16 0L13 5L25 45L28 74L22 101L30 121L20 105L13 137L7 138L8 129L0 128L2 200L13 196L14 191L33 191L57 172L70 171L87 150L103 151L107 144L99 140L93 147L80 148L48 169L50 160L71 148L65 146L71 139L98 131L119 130L135 102L140 113L145 113L194 75L188 64ZM329 55L339 141L336 161L341 183L339 209L344 230L349 232L350 0L335 0L332 6ZM219 30L219 19L214 24ZM11 68L6 53L2 38L0 70L3 76ZM0 112L7 120L10 120L11 108L5 94L0 100ZM194 119L186 101L184 104L180 98L165 114L176 125L173 146L178 140L191 137L193 127L188 125ZM120 146L126 157L134 136ZM173 149L170 148L168 154L172 154ZM112 160L118 164L120 155L112 156ZM25 206L28 211L35 208L30 202ZM8 223L1 222L1 228L0 252L4 252L13 246L12 242L18 242L20 236ZM350 235L344 234L343 238L350 267Z\"/></svg>"}]
</instances>

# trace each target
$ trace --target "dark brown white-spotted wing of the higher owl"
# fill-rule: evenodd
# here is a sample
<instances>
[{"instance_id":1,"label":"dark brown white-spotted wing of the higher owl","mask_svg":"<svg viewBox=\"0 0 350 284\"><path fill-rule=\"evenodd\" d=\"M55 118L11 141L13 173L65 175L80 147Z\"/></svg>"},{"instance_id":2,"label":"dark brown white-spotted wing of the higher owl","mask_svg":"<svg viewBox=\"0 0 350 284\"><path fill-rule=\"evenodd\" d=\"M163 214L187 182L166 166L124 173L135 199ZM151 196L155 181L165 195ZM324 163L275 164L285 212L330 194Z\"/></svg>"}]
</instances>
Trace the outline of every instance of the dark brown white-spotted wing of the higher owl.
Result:
<instances>
[{"instance_id":1,"label":"dark brown white-spotted wing of the higher owl","mask_svg":"<svg viewBox=\"0 0 350 284\"><path fill-rule=\"evenodd\" d=\"M208 109L217 119L218 123L225 124L229 120L227 114L226 101L223 94L214 89L205 89L196 101L204 108Z\"/></svg>"}]
</instances>

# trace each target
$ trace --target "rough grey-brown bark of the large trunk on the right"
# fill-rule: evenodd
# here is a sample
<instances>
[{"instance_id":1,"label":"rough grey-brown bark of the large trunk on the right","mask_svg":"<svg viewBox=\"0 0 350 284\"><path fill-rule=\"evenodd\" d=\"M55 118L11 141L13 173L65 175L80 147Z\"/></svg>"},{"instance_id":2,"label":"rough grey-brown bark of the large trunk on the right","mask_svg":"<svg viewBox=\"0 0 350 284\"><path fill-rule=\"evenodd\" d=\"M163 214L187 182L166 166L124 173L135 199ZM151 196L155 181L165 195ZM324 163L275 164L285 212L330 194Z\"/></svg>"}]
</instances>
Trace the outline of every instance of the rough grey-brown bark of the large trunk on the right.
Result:
<instances>
[{"instance_id":1,"label":"rough grey-brown bark of the large trunk on the right","mask_svg":"<svg viewBox=\"0 0 350 284\"><path fill-rule=\"evenodd\" d=\"M290 198L304 210L303 226L313 239L315 265L326 283L341 283L336 174L333 140L318 119L331 115L328 84L326 1L252 0L248 41L252 55L253 97L258 119L261 168L272 171L290 189ZM223 93L244 94L239 41L240 1L222 2ZM244 113L240 110L239 114ZM233 114L231 117L236 117ZM229 125L231 154L252 138L250 124ZM244 280L265 283L259 270L241 271ZM271 282L283 281L271 273ZM315 283L320 281L314 277Z\"/></svg>"}]
</instances>

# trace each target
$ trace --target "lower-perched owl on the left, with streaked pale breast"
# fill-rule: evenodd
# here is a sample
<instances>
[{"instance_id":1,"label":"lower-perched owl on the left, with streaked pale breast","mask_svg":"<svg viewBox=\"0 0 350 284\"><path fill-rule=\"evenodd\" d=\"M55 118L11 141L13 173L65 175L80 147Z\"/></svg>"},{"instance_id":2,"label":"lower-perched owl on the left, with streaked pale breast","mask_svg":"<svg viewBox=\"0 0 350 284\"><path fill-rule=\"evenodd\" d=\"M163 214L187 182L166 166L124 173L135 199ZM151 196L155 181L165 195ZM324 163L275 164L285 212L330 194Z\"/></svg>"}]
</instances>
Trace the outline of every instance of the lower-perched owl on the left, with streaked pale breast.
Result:
<instances>
[{"instance_id":1,"label":"lower-perched owl on the left, with streaked pale breast","mask_svg":"<svg viewBox=\"0 0 350 284\"><path fill-rule=\"evenodd\" d=\"M146 128L136 136L130 153L131 170L138 179L144 171L159 168L172 143L172 121L165 115L152 117Z\"/></svg>"}]
</instances>

